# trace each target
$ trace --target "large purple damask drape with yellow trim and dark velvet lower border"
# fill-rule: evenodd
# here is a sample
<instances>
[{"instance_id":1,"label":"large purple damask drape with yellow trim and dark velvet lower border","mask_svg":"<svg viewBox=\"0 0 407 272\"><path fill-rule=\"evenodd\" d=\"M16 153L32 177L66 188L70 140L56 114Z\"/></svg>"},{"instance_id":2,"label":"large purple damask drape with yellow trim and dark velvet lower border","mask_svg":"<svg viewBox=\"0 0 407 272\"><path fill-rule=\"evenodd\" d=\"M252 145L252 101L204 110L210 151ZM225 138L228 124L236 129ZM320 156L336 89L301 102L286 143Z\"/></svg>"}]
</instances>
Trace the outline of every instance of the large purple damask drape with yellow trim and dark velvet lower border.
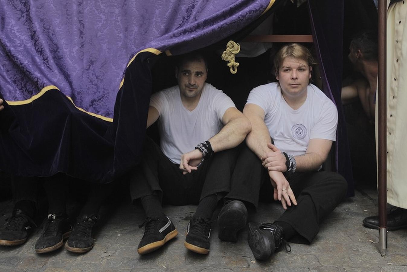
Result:
<instances>
[{"instance_id":1,"label":"large purple damask drape with yellow trim and dark velvet lower border","mask_svg":"<svg viewBox=\"0 0 407 272\"><path fill-rule=\"evenodd\" d=\"M140 160L152 88L149 59L159 52L133 59L136 53L155 48L177 55L214 44L254 22L271 3L1 0L0 97L10 105L0 113L0 170L63 172L94 182L123 175ZM46 86L40 97L23 101ZM110 119L78 110L66 96Z\"/></svg>"}]
</instances>

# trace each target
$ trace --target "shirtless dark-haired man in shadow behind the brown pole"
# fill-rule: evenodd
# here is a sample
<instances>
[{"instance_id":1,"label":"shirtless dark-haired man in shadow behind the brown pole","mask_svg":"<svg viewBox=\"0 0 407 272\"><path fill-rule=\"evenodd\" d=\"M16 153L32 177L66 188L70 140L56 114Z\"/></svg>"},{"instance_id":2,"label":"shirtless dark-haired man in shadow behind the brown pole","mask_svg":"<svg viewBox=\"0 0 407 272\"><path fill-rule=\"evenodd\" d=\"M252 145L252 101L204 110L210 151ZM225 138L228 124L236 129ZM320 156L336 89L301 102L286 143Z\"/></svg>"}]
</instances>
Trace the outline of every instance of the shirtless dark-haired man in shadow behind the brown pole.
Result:
<instances>
[{"instance_id":1,"label":"shirtless dark-haired man in shadow behind the brown pole","mask_svg":"<svg viewBox=\"0 0 407 272\"><path fill-rule=\"evenodd\" d=\"M348 57L354 71L362 75L344 86L341 93L341 100L345 105L352 171L358 183L373 184L377 179L374 136L378 72L377 31L365 31L355 35L349 51Z\"/></svg>"}]
</instances>

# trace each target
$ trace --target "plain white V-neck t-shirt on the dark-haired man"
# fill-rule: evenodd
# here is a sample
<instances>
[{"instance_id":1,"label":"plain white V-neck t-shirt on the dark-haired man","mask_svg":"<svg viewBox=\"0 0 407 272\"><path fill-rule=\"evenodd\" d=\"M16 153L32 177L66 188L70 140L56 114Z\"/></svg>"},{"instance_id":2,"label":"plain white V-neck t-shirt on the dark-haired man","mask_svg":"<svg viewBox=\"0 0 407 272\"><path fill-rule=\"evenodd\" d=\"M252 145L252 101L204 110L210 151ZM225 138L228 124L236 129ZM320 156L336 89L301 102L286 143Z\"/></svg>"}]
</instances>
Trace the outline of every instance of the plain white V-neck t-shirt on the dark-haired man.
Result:
<instances>
[{"instance_id":1,"label":"plain white V-neck t-shirt on the dark-haired man","mask_svg":"<svg viewBox=\"0 0 407 272\"><path fill-rule=\"evenodd\" d=\"M235 107L221 90L205 83L197 107L189 111L182 105L179 87L173 86L151 96L150 106L160 114L161 150L172 162L179 164L181 155L216 135L223 127L222 117Z\"/></svg>"}]
</instances>

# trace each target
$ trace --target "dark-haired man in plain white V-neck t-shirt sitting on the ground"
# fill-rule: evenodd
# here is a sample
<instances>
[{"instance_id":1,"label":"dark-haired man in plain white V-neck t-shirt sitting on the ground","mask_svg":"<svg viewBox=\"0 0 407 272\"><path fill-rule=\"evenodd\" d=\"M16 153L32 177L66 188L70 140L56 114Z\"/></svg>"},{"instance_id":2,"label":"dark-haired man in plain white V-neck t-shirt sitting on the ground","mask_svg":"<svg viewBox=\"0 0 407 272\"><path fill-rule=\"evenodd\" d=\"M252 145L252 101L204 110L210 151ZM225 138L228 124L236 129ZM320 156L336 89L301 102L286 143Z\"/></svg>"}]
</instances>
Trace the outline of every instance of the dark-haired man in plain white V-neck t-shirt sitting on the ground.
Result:
<instances>
[{"instance_id":1,"label":"dark-haired man in plain white V-neck t-shirt sitting on the ground","mask_svg":"<svg viewBox=\"0 0 407 272\"><path fill-rule=\"evenodd\" d=\"M251 125L227 95L206 83L207 75L201 54L183 55L175 68L178 85L151 97L147 127L158 120L160 147L147 138L144 160L131 178L132 199L141 200L147 217L139 254L156 250L178 233L161 200L199 203L184 244L193 252L209 252L212 213L230 189L232 148Z\"/></svg>"}]
</instances>

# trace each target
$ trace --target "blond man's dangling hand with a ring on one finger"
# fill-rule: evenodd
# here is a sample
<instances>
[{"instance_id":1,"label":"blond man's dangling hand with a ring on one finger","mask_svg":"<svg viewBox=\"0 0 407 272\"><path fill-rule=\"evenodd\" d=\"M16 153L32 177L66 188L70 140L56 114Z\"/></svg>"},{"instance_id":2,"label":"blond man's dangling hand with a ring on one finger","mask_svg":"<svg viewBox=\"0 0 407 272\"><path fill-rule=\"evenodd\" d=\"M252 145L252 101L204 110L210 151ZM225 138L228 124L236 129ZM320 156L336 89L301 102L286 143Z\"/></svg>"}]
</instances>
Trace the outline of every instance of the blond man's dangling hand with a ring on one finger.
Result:
<instances>
[{"instance_id":1,"label":"blond man's dangling hand with a ring on one finger","mask_svg":"<svg viewBox=\"0 0 407 272\"><path fill-rule=\"evenodd\" d=\"M269 171L269 177L271 185L274 187L274 200L281 201L284 210L287 210L287 205L291 206L291 202L293 202L294 205L297 205L294 193L284 175L278 171Z\"/></svg>"}]
</instances>

